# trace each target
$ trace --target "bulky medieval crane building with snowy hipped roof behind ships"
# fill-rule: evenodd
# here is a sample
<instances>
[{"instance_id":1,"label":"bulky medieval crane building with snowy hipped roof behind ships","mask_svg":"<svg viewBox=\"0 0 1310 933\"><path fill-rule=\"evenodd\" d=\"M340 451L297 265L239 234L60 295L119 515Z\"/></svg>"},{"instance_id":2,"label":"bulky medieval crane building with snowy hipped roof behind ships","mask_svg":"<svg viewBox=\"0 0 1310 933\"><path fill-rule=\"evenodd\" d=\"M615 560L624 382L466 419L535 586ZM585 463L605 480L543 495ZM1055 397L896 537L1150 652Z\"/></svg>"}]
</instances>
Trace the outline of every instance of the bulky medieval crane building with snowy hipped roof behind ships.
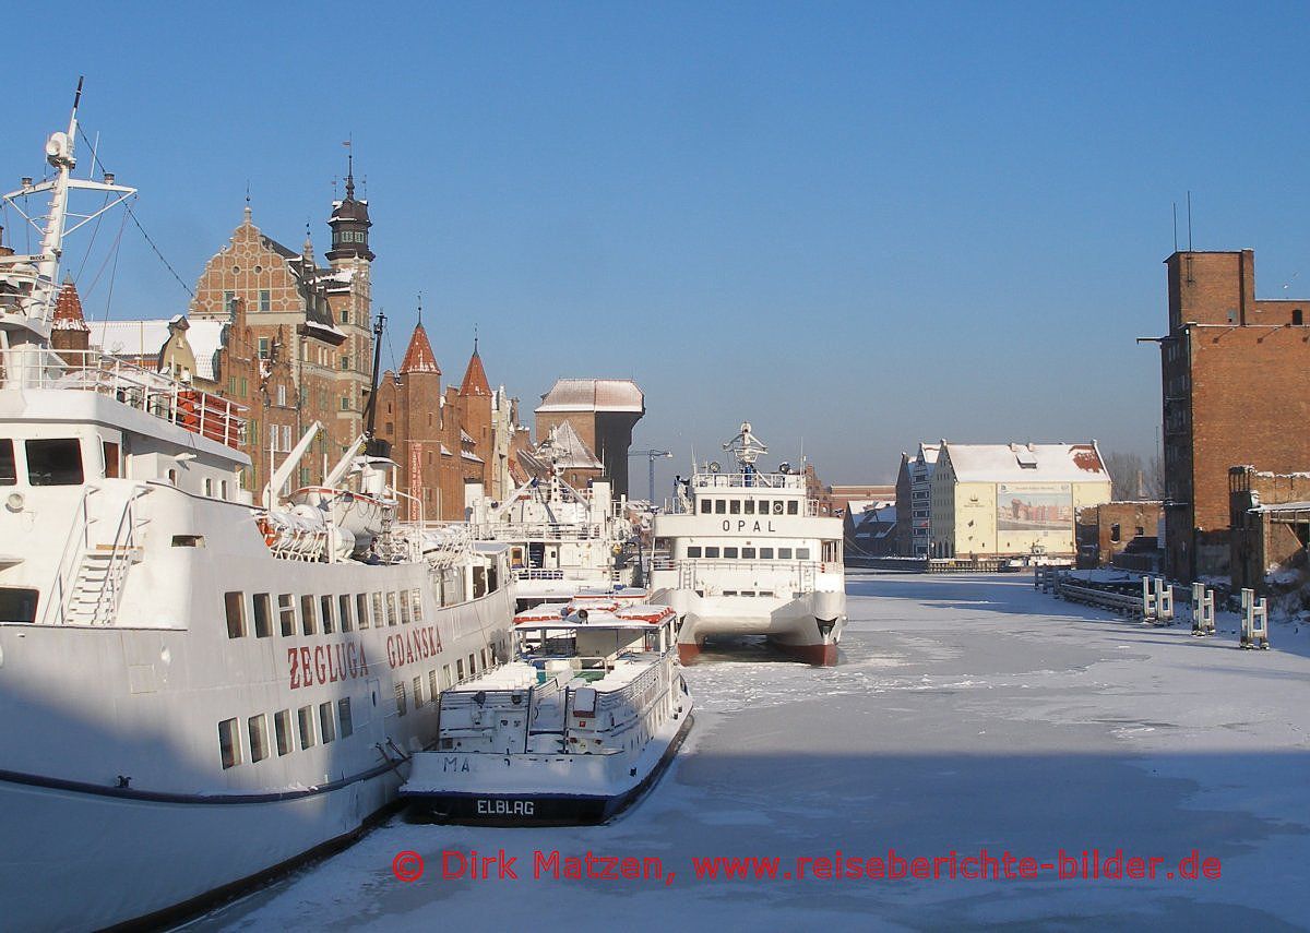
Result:
<instances>
[{"instance_id":1,"label":"bulky medieval crane building with snowy hipped roof behind ships","mask_svg":"<svg viewBox=\"0 0 1310 933\"><path fill-rule=\"evenodd\" d=\"M646 397L630 379L559 379L541 396L537 436L567 423L605 464L614 497L627 494L627 449L633 427L646 414Z\"/></svg>"}]
</instances>

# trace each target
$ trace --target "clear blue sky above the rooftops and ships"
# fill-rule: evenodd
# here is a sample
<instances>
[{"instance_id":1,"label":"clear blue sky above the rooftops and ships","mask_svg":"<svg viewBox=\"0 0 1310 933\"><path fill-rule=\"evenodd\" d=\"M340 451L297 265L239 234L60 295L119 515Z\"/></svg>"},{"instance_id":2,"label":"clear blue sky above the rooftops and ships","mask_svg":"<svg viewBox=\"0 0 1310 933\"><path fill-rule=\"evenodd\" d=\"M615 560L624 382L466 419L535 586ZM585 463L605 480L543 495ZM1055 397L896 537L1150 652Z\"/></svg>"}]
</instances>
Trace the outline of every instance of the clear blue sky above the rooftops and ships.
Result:
<instances>
[{"instance_id":1,"label":"clear blue sky above the rooftops and ships","mask_svg":"<svg viewBox=\"0 0 1310 933\"><path fill-rule=\"evenodd\" d=\"M1175 200L1184 246L1191 190L1197 249L1310 296L1306 10L75 3L7 56L0 177L39 174L85 73L84 127L194 284L248 181L265 232L326 249L352 134L397 359L422 291L448 377L473 321L525 410L635 377L637 446L683 470L743 418L831 482L943 436L1148 455ZM186 300L128 224L107 313Z\"/></svg>"}]
</instances>

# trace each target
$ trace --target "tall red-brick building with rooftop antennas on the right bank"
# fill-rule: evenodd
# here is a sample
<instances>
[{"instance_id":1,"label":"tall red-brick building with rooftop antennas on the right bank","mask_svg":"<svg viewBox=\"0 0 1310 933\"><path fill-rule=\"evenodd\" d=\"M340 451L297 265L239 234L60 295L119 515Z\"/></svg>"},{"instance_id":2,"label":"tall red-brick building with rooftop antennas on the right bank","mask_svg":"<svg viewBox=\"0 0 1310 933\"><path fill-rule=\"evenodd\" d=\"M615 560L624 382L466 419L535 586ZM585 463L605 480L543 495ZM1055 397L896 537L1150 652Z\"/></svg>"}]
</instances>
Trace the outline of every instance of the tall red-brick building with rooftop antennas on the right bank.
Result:
<instances>
[{"instance_id":1,"label":"tall red-brick building with rooftop antennas on the right bank","mask_svg":"<svg viewBox=\"0 0 1310 933\"><path fill-rule=\"evenodd\" d=\"M1310 466L1310 300L1256 299L1250 249L1165 265L1165 569L1191 581L1229 574L1230 466Z\"/></svg>"}]
</instances>

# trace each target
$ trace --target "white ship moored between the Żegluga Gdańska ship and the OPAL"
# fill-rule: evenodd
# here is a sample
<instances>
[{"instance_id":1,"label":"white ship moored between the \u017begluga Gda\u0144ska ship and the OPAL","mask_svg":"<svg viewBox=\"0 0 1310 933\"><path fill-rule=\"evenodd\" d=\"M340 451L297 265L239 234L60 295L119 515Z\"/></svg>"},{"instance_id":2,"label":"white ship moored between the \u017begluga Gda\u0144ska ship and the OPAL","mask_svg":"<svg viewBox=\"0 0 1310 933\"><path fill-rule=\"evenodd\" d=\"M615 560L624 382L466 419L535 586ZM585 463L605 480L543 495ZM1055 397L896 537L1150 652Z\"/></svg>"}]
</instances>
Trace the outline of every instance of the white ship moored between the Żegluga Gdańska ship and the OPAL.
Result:
<instances>
[{"instance_id":1,"label":"white ship moored between the \u017begluga Gda\u0144ska ship and the OPAL","mask_svg":"<svg viewBox=\"0 0 1310 933\"><path fill-rule=\"evenodd\" d=\"M607 591L635 582L637 536L608 481L587 490L563 478L563 451L546 439L533 453L542 474L504 502L472 495L473 536L510 548L510 573L517 607L567 601L583 590Z\"/></svg>"}]
</instances>

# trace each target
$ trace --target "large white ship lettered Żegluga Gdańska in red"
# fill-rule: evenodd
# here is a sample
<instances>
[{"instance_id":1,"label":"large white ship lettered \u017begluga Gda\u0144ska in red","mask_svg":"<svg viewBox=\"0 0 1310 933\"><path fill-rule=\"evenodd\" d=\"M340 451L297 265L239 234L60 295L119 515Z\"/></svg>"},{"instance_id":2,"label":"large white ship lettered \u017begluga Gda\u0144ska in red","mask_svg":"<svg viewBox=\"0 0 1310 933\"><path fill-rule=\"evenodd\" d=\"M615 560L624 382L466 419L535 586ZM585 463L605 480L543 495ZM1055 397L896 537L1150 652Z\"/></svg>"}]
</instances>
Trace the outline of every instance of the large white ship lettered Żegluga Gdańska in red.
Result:
<instances>
[{"instance_id":1,"label":"large white ship lettered \u017begluga Gda\u0144ska in red","mask_svg":"<svg viewBox=\"0 0 1310 933\"><path fill-rule=\"evenodd\" d=\"M69 191L134 193L72 177L76 132L75 102L52 177L7 195L50 197L41 252L0 257L14 930L160 921L351 837L435 739L440 691L504 659L512 612L503 548L394 523L389 461L351 456L339 485L261 507L234 405L51 351Z\"/></svg>"}]
</instances>

